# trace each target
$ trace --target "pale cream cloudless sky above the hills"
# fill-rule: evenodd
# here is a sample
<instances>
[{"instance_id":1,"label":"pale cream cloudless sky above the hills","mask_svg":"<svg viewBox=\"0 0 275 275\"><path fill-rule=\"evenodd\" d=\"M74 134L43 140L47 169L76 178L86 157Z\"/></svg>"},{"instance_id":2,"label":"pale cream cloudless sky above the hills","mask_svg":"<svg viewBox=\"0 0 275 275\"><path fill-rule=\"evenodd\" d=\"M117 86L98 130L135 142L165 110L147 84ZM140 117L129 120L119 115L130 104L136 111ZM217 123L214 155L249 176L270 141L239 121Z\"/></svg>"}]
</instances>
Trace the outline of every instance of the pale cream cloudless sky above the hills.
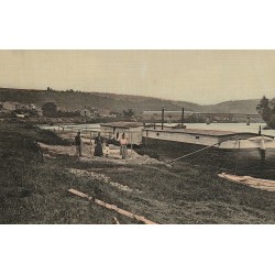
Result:
<instances>
[{"instance_id":1,"label":"pale cream cloudless sky above the hills","mask_svg":"<svg viewBox=\"0 0 275 275\"><path fill-rule=\"evenodd\" d=\"M200 105L275 97L275 51L0 51L0 87Z\"/></svg>"}]
</instances>

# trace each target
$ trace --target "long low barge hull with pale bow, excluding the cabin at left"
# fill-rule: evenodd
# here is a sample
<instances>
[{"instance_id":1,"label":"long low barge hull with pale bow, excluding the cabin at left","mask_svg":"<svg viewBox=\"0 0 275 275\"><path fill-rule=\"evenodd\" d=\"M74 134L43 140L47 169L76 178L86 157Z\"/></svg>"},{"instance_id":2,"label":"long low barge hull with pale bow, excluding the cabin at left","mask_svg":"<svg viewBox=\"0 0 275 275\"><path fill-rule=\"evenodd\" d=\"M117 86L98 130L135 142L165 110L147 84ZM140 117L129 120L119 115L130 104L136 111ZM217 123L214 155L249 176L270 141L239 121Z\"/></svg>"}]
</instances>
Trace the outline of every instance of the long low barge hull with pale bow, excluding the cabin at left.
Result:
<instances>
[{"instance_id":1,"label":"long low barge hull with pale bow, excluding the cabin at left","mask_svg":"<svg viewBox=\"0 0 275 275\"><path fill-rule=\"evenodd\" d=\"M198 129L143 129L142 144L144 146L178 145L178 150L191 150L204 146L218 152L235 152L243 160L275 160L274 136L258 135L249 132L230 132Z\"/></svg>"}]
</instances>

